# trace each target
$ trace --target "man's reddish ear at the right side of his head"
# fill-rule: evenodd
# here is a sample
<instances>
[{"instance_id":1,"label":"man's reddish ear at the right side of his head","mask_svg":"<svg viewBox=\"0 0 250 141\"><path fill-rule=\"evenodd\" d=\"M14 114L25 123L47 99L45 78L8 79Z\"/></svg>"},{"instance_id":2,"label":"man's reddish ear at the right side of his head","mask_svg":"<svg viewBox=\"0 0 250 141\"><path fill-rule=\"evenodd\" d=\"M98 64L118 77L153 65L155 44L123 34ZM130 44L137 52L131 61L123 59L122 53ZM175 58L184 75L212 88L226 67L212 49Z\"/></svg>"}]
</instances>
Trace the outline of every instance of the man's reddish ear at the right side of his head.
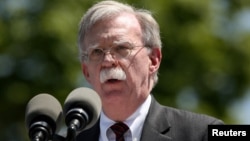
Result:
<instances>
[{"instance_id":1,"label":"man's reddish ear at the right side of his head","mask_svg":"<svg viewBox=\"0 0 250 141\"><path fill-rule=\"evenodd\" d=\"M161 49L158 47L152 48L149 54L149 59L151 61L151 64L149 66L149 71L151 73L155 73L159 69L161 58L162 58Z\"/></svg>"}]
</instances>

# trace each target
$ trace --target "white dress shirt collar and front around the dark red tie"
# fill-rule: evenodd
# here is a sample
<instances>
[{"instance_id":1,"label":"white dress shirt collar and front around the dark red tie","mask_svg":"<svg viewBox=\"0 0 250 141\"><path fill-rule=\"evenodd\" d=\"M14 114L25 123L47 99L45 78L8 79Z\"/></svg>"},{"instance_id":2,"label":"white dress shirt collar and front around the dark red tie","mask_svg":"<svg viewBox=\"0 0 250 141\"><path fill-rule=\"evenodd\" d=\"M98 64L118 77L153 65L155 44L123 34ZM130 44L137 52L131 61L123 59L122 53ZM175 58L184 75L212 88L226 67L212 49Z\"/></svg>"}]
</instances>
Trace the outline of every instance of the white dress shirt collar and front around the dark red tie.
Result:
<instances>
[{"instance_id":1,"label":"white dress shirt collar and front around the dark red tie","mask_svg":"<svg viewBox=\"0 0 250 141\"><path fill-rule=\"evenodd\" d=\"M124 134L125 141L139 141L141 138L142 127L151 103L151 95L142 103L140 107L125 121L129 130ZM100 115L100 136L99 141L115 141L115 134L109 128L115 121L109 119L103 111Z\"/></svg>"}]
</instances>

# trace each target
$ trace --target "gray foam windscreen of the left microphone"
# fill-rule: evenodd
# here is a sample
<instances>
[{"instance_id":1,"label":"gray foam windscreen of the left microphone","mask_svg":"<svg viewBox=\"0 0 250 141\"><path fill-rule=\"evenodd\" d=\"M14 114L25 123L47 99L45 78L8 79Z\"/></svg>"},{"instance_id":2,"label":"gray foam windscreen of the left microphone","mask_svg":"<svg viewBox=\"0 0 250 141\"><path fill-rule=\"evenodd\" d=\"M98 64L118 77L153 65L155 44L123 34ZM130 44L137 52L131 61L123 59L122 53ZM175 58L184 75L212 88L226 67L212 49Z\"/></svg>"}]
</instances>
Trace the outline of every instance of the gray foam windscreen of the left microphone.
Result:
<instances>
[{"instance_id":1,"label":"gray foam windscreen of the left microphone","mask_svg":"<svg viewBox=\"0 0 250 141\"><path fill-rule=\"evenodd\" d=\"M38 94L28 102L25 112L26 127L29 129L34 121L43 120L44 117L52 122L53 126L56 126L62 120L60 102L46 93Z\"/></svg>"}]
</instances>

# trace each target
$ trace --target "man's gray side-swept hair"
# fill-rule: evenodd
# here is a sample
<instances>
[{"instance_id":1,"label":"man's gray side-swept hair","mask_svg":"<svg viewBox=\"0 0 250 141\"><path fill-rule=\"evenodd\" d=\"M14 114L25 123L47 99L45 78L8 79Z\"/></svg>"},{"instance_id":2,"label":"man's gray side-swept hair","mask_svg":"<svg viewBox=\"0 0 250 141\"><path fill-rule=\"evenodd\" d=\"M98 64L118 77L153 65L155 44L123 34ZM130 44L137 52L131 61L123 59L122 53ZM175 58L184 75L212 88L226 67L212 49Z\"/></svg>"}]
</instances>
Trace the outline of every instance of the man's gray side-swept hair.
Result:
<instances>
[{"instance_id":1,"label":"man's gray side-swept hair","mask_svg":"<svg viewBox=\"0 0 250 141\"><path fill-rule=\"evenodd\" d=\"M115 17L121 13L132 13L136 16L142 29L142 42L145 47L161 49L161 39L159 25L153 18L150 11L145 9L136 9L130 5L123 4L113 0L105 0L96 3L91 7L80 22L79 34L78 34L78 47L80 55L84 52L84 39L91 27L98 21ZM81 60L83 61L83 60ZM158 72L153 76L154 85L158 81Z\"/></svg>"}]
</instances>

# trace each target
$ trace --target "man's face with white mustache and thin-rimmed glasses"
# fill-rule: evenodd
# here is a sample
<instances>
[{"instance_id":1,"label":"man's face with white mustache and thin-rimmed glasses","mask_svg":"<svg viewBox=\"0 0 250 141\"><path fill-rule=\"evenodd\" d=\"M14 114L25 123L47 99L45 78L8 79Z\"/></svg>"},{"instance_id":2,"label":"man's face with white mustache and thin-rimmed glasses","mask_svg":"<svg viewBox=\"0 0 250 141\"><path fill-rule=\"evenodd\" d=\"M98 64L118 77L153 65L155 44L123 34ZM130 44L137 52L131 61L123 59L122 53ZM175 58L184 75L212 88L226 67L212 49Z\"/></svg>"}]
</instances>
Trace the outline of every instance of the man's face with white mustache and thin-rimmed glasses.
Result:
<instances>
[{"instance_id":1,"label":"man's face with white mustache and thin-rimmed glasses","mask_svg":"<svg viewBox=\"0 0 250 141\"><path fill-rule=\"evenodd\" d=\"M82 63L85 78L100 95L104 107L128 103L138 106L147 98L153 85L152 74L159 67L160 50L153 49L157 53L150 53L143 46L141 27L133 15L124 13L96 23L83 43L88 51L120 45L132 47L124 58L106 52L101 61Z\"/></svg>"}]
</instances>

